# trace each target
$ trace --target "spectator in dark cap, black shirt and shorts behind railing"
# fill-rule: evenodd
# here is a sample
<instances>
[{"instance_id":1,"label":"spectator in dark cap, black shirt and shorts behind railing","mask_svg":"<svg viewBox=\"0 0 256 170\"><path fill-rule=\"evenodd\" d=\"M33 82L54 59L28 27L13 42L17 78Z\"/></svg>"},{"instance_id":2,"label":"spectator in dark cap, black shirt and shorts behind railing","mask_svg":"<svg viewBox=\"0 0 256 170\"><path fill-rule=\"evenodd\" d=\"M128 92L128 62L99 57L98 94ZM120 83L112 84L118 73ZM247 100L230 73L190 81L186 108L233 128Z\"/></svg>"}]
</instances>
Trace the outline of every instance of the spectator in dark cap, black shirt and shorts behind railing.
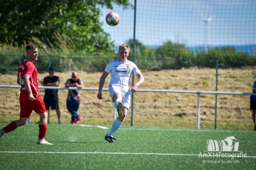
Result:
<instances>
[{"instance_id":1,"label":"spectator in dark cap, black shirt and shorts behind railing","mask_svg":"<svg viewBox=\"0 0 256 170\"><path fill-rule=\"evenodd\" d=\"M49 76L44 78L43 85L44 86L52 86L52 87L58 87L59 86L59 77L54 76L54 67L49 67ZM49 109L55 109L56 114L58 116L58 124L62 124L62 121L60 119L61 112L59 110L59 99L58 99L58 89L45 89L45 95L44 95L44 104L46 110L49 112Z\"/></svg>"}]
</instances>

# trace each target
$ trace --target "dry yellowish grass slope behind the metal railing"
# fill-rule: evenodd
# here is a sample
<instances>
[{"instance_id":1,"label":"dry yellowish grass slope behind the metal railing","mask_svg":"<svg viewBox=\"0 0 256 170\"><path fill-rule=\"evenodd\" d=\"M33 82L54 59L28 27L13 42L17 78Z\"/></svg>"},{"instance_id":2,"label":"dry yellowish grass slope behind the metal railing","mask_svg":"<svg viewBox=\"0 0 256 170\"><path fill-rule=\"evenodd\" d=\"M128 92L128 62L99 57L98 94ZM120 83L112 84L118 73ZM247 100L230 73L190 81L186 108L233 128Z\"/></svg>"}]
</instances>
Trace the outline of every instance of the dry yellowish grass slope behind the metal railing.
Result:
<instances>
[{"instance_id":1,"label":"dry yellowish grass slope behind the metal railing","mask_svg":"<svg viewBox=\"0 0 256 170\"><path fill-rule=\"evenodd\" d=\"M97 88L102 73L78 71L85 87ZM39 73L38 80L42 80L48 73ZM71 77L71 72L56 72L60 77L60 87ZM173 89L215 91L215 69L181 69L143 72L145 82L140 89ZM251 92L256 77L254 68L219 69L218 91ZM104 88L108 87L110 75L106 79ZM132 81L132 80L131 80ZM16 75L0 75L1 85L16 85ZM131 82L130 82L131 83ZM0 122L10 122L18 119L19 90L11 88L0 89ZM44 90L40 90L44 96ZM97 91L82 91L79 114L84 117L82 124L111 125L113 121L113 104L108 91L103 92L103 100L97 99ZM70 123L65 102L66 90L59 90L59 105L62 120ZM251 129L253 122L249 110L250 96L218 95L218 127ZM201 128L214 128L215 95L200 95ZM130 125L130 111L124 125ZM36 122L38 116L32 114L31 122ZM50 120L57 122L55 111L50 111ZM135 94L134 125L155 127L196 127L197 95L183 93L153 93L138 92Z\"/></svg>"}]
</instances>

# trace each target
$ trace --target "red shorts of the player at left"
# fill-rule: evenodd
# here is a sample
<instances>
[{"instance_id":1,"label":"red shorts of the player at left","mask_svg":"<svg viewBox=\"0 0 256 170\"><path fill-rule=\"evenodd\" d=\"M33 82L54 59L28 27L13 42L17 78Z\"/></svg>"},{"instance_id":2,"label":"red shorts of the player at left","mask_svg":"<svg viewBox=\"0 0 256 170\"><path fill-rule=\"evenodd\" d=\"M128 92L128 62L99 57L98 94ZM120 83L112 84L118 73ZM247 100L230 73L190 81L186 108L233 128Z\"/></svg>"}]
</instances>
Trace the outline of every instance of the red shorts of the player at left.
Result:
<instances>
[{"instance_id":1,"label":"red shorts of the player at left","mask_svg":"<svg viewBox=\"0 0 256 170\"><path fill-rule=\"evenodd\" d=\"M40 94L38 94L38 96L35 97L35 100L33 101L30 101L27 95L20 95L20 105L21 105L20 118L30 117L33 110L35 111L35 113L46 112L44 100L40 96Z\"/></svg>"}]
</instances>

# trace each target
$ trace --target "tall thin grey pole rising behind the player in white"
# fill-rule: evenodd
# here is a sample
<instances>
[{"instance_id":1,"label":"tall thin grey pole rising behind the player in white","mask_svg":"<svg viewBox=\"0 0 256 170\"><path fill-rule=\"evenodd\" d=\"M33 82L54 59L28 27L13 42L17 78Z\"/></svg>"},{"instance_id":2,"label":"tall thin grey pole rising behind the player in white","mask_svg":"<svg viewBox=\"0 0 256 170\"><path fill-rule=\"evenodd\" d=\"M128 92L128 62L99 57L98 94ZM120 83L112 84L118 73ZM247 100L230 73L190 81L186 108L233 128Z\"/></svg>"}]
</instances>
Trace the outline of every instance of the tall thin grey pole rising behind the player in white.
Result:
<instances>
[{"instance_id":1,"label":"tall thin grey pole rising behind the player in white","mask_svg":"<svg viewBox=\"0 0 256 170\"><path fill-rule=\"evenodd\" d=\"M132 61L135 63L135 27L136 26L136 0L134 0L134 23L133 23L133 57ZM132 73L132 86L134 85L134 73ZM132 94L132 113L131 113L131 126L133 126L133 104L134 104L134 94Z\"/></svg>"}]
</instances>

